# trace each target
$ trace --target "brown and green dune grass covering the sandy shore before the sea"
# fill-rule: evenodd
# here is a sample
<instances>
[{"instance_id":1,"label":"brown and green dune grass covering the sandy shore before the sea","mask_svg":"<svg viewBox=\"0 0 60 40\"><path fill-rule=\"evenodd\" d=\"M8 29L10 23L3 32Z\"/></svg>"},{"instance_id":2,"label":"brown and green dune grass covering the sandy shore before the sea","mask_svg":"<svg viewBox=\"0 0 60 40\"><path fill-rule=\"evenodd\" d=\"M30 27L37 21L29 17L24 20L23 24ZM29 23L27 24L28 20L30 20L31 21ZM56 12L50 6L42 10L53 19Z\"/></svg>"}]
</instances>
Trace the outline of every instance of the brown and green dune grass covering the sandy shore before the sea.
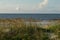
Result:
<instances>
[{"instance_id":1,"label":"brown and green dune grass covering the sandy shore before the sea","mask_svg":"<svg viewBox=\"0 0 60 40\"><path fill-rule=\"evenodd\" d=\"M44 29L29 22L30 25L27 26L24 20L20 19L0 20L0 40L52 40L49 34L56 32L58 39L60 38L60 24Z\"/></svg>"}]
</instances>

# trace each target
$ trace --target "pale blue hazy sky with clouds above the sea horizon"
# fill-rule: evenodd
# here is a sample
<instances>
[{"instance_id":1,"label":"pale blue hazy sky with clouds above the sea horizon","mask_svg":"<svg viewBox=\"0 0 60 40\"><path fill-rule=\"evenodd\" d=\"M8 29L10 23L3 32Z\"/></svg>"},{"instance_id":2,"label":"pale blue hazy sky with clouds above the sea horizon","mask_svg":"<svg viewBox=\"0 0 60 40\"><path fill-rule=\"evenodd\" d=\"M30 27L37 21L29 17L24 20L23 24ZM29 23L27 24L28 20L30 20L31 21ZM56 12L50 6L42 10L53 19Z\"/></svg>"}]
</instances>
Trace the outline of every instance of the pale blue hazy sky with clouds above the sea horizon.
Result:
<instances>
[{"instance_id":1,"label":"pale blue hazy sky with clouds above the sea horizon","mask_svg":"<svg viewBox=\"0 0 60 40\"><path fill-rule=\"evenodd\" d=\"M60 13L60 0L0 0L0 13Z\"/></svg>"}]
</instances>

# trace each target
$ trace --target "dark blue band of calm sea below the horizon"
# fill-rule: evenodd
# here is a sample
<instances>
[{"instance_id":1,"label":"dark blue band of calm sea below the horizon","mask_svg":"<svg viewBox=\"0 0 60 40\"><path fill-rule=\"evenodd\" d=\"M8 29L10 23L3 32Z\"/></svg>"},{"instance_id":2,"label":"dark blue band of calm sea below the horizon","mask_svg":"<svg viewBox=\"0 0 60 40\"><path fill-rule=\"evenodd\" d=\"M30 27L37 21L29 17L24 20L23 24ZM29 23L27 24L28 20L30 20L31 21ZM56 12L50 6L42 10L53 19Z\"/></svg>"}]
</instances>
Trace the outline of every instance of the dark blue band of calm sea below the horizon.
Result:
<instances>
[{"instance_id":1,"label":"dark blue band of calm sea below the horizon","mask_svg":"<svg viewBox=\"0 0 60 40\"><path fill-rule=\"evenodd\" d=\"M60 19L60 14L0 14L0 18Z\"/></svg>"}]
</instances>

